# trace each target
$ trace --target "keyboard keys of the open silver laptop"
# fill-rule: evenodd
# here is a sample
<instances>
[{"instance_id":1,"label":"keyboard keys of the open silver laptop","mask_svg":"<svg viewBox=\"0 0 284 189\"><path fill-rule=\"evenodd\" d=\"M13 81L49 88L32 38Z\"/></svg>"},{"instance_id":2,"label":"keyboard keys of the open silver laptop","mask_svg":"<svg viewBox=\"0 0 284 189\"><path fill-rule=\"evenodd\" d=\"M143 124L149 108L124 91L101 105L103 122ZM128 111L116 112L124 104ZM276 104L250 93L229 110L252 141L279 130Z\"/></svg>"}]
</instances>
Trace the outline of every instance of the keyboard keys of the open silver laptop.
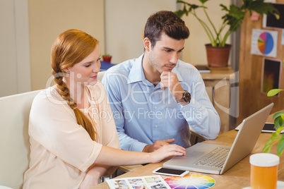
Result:
<instances>
[{"instance_id":1,"label":"keyboard keys of the open silver laptop","mask_svg":"<svg viewBox=\"0 0 284 189\"><path fill-rule=\"evenodd\" d=\"M223 148L223 147L216 147L215 150L210 152L199 159L198 161L194 162L194 165L198 166L212 166L212 167L222 167L227 159L227 154L229 153L230 149Z\"/></svg>"}]
</instances>

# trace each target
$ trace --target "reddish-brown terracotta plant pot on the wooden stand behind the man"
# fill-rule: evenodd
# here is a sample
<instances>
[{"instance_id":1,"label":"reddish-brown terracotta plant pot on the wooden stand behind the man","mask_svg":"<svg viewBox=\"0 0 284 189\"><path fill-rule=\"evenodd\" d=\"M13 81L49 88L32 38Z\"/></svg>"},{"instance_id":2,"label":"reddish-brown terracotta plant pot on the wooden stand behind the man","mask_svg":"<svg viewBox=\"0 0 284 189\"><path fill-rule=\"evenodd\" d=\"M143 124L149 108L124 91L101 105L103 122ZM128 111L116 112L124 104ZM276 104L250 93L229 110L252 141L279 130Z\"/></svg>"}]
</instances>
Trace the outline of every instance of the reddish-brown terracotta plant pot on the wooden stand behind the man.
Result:
<instances>
[{"instance_id":1,"label":"reddish-brown terracotta plant pot on the wooden stand behind the man","mask_svg":"<svg viewBox=\"0 0 284 189\"><path fill-rule=\"evenodd\" d=\"M225 47L212 47L211 44L205 44L208 66L226 67L229 61L231 46L230 44L225 44Z\"/></svg>"}]
</instances>

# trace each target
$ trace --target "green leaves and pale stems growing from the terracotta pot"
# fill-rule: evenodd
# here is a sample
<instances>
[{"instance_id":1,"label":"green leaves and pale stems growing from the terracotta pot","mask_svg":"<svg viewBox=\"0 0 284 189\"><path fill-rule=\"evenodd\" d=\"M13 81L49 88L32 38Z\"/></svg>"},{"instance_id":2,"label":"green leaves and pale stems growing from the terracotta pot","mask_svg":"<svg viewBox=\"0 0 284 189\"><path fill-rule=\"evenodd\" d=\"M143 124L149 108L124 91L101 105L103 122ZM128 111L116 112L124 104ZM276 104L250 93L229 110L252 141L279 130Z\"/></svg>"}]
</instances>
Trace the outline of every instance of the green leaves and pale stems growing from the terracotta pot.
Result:
<instances>
[{"instance_id":1,"label":"green leaves and pale stems growing from the terracotta pot","mask_svg":"<svg viewBox=\"0 0 284 189\"><path fill-rule=\"evenodd\" d=\"M221 18L223 23L220 25L220 28L217 29L213 24L211 17L207 13L208 8L205 6L207 1L209 0L199 0L200 5L196 5L189 4L186 1L177 0L177 3L183 4L183 8L174 13L176 13L179 17L184 15L188 16L189 13L193 15L206 31L212 47L225 47L227 37L229 37L232 32L235 32L239 28L240 23L242 23L242 20L244 20L244 16L247 12L249 12L250 15L252 15L252 11L255 11L261 16L263 16L263 14L271 13L274 13L276 18L279 16L278 10L274 8L272 4L265 3L264 0L242 0L243 3L240 7L237 7L234 4L230 5L229 7L220 4L222 11L225 11L225 16ZM203 13L205 14L209 24L206 24L206 22L201 20L201 18L197 15L196 9L198 8L203 9ZM229 27L226 27L227 25ZM225 34L222 36L221 33Z\"/></svg>"}]
</instances>

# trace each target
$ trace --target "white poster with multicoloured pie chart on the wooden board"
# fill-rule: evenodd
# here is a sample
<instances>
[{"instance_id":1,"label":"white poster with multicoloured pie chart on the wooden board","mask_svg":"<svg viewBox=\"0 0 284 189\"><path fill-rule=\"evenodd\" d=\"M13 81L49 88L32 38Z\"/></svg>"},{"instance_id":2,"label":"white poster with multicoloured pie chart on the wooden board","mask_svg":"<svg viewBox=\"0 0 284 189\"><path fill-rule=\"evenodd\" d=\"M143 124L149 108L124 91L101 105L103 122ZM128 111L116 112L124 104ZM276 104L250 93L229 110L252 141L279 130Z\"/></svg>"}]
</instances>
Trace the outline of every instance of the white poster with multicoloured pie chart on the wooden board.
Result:
<instances>
[{"instance_id":1,"label":"white poster with multicoloured pie chart on the wooden board","mask_svg":"<svg viewBox=\"0 0 284 189\"><path fill-rule=\"evenodd\" d=\"M251 53L275 58L277 56L277 31L252 30Z\"/></svg>"}]
</instances>

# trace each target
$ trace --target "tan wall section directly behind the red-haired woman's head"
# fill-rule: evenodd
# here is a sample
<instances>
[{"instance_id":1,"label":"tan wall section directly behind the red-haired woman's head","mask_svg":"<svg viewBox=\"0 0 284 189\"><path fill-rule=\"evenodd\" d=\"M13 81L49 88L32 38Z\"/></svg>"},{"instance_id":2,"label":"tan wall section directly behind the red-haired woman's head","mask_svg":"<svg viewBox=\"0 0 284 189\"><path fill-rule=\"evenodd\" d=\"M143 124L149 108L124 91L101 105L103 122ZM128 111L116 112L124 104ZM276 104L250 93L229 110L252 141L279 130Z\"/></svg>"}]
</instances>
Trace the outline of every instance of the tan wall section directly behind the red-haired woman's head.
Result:
<instances>
[{"instance_id":1,"label":"tan wall section directly behind the red-haired woman's head","mask_svg":"<svg viewBox=\"0 0 284 189\"><path fill-rule=\"evenodd\" d=\"M79 29L105 49L103 0L28 0L32 90L46 87L52 75L50 50L57 36Z\"/></svg>"}]
</instances>

